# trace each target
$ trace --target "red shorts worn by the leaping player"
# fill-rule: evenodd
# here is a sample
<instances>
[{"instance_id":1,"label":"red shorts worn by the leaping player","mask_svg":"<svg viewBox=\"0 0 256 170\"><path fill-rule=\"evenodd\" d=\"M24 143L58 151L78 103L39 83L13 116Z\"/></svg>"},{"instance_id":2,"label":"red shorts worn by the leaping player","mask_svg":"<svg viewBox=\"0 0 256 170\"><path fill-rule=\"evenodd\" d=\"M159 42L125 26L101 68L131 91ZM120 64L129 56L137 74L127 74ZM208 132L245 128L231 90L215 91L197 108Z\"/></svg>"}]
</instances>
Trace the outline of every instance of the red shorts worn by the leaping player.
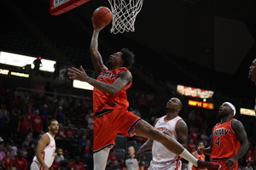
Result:
<instances>
[{"instance_id":1,"label":"red shorts worn by the leaping player","mask_svg":"<svg viewBox=\"0 0 256 170\"><path fill-rule=\"evenodd\" d=\"M105 147L111 149L115 145L114 139L117 133L127 137L134 135L137 122L142 119L127 109L113 109L102 116L93 118L94 139L93 151L102 150Z\"/></svg>"}]
</instances>

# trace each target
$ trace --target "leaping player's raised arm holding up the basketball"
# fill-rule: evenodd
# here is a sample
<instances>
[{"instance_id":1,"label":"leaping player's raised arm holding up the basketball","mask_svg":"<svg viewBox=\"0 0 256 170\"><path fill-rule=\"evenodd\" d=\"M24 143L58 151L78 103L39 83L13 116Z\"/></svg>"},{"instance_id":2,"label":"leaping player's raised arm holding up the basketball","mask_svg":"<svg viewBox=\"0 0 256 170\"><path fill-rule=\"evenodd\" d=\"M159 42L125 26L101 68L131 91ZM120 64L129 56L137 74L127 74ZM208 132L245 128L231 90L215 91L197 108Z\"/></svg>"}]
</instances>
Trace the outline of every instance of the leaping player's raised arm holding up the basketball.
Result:
<instances>
[{"instance_id":1,"label":"leaping player's raised arm holding up the basketball","mask_svg":"<svg viewBox=\"0 0 256 170\"><path fill-rule=\"evenodd\" d=\"M104 28L104 26L99 27L93 23L93 28L94 28L94 31L90 41L90 56L91 56L94 69L97 75L99 75L102 69L106 67L105 65L103 65L102 55L98 51L98 37L99 37L100 31Z\"/></svg>"}]
</instances>

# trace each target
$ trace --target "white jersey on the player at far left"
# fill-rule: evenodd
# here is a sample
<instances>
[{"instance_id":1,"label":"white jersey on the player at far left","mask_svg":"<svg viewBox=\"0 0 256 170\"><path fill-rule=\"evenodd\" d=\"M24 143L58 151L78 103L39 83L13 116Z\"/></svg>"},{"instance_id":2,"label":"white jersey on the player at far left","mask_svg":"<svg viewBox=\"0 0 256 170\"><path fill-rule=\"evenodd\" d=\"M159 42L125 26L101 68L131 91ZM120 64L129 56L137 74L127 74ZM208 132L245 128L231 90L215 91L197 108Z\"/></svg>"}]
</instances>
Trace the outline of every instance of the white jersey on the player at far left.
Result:
<instances>
[{"instance_id":1,"label":"white jersey on the player at far left","mask_svg":"<svg viewBox=\"0 0 256 170\"><path fill-rule=\"evenodd\" d=\"M49 133L44 133L44 135L49 136L49 144L44 148L42 157L45 164L50 167L55 159L55 139ZM34 156L33 161L39 163L37 156Z\"/></svg>"}]
</instances>

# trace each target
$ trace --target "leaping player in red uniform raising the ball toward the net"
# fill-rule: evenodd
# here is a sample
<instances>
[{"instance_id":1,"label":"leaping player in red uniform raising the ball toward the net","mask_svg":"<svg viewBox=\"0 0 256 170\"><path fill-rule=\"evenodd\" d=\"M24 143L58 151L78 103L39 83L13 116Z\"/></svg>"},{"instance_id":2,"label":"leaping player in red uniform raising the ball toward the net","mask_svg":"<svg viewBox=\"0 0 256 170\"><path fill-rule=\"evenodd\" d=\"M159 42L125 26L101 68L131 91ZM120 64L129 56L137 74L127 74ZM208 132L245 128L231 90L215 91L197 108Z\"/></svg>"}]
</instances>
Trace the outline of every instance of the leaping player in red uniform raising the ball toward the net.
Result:
<instances>
[{"instance_id":1,"label":"leaping player in red uniform raising the ball toward the net","mask_svg":"<svg viewBox=\"0 0 256 170\"><path fill-rule=\"evenodd\" d=\"M195 167L207 167L217 170L218 163L198 161L183 145L179 144L165 133L152 127L148 122L128 111L126 90L131 87L132 77L128 70L134 62L134 54L126 48L110 55L107 66L103 65L102 56L98 51L98 36L103 27L93 24L93 35L90 42L90 55L97 79L88 77L82 65L80 69L68 69L71 79L88 82L93 90L93 121L94 169L104 170L108 160L109 150L114 146L117 133L131 137L134 134L160 142L168 150L191 161Z\"/></svg>"}]
</instances>

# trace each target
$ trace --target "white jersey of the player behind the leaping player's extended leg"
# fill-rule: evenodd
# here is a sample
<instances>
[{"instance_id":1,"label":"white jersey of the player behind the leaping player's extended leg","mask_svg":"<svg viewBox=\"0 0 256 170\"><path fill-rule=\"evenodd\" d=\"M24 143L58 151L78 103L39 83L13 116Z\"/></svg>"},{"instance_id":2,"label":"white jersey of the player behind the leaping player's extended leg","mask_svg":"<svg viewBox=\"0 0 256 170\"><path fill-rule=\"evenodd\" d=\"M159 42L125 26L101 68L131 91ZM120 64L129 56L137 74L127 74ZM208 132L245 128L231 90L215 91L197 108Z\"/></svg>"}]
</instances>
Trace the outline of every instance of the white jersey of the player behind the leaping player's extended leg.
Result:
<instances>
[{"instance_id":1,"label":"white jersey of the player behind the leaping player's extended leg","mask_svg":"<svg viewBox=\"0 0 256 170\"><path fill-rule=\"evenodd\" d=\"M166 121L166 116L162 116L158 122L155 123L154 127L162 132L168 133L173 139L177 140L176 124L181 120L183 119L180 116L176 116L172 120ZM175 161L178 156L170 150L167 150L163 144L154 140L152 158L154 162L161 163L165 161Z\"/></svg>"}]
</instances>

